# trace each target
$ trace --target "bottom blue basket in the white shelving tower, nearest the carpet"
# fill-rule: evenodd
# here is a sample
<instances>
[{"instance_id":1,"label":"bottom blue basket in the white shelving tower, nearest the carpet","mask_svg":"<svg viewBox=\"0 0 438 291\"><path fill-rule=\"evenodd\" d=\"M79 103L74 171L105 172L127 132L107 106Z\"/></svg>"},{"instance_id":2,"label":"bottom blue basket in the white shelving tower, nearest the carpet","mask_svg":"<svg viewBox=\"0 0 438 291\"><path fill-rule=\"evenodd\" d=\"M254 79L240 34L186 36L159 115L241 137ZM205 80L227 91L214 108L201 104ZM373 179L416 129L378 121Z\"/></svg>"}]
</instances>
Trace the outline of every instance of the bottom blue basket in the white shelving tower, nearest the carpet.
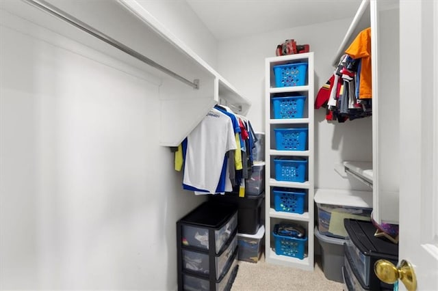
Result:
<instances>
[{"instance_id":1,"label":"bottom blue basket in the white shelving tower, nearest the carpet","mask_svg":"<svg viewBox=\"0 0 438 291\"><path fill-rule=\"evenodd\" d=\"M278 234L278 229L279 225L274 225L272 236L274 236L275 253L302 260L305 254L307 237L294 238L292 236L282 236Z\"/></svg>"}]
</instances>

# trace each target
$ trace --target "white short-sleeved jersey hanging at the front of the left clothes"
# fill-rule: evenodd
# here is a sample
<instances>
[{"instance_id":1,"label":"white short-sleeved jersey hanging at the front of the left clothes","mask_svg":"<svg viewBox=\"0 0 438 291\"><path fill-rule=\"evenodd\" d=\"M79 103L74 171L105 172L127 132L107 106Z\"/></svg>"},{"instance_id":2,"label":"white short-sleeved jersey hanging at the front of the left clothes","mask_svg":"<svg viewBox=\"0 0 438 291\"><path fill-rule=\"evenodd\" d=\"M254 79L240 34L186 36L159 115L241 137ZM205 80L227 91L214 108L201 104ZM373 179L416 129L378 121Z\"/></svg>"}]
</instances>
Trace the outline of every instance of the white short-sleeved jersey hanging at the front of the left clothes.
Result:
<instances>
[{"instance_id":1,"label":"white short-sleeved jersey hanging at the front of the left clothes","mask_svg":"<svg viewBox=\"0 0 438 291\"><path fill-rule=\"evenodd\" d=\"M211 109L187 137L183 183L216 193L224 156L236 148L230 117Z\"/></svg>"}]
</instances>

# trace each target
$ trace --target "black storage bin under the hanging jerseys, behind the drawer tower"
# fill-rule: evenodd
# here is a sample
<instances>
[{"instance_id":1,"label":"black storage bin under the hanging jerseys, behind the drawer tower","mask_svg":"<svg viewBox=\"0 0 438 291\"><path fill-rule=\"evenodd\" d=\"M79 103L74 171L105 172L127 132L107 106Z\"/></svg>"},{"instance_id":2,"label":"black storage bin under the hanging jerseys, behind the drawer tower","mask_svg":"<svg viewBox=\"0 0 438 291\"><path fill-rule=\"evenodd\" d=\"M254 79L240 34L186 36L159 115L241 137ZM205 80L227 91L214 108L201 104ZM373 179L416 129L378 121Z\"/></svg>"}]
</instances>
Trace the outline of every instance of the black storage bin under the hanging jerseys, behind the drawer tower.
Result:
<instances>
[{"instance_id":1,"label":"black storage bin under the hanging jerseys, behind the drawer tower","mask_svg":"<svg viewBox=\"0 0 438 291\"><path fill-rule=\"evenodd\" d=\"M265 193L258 196L239 197L237 193L211 195L209 201L220 204L235 205L237 212L237 230L240 234L257 234L261 225L261 208Z\"/></svg>"}]
</instances>

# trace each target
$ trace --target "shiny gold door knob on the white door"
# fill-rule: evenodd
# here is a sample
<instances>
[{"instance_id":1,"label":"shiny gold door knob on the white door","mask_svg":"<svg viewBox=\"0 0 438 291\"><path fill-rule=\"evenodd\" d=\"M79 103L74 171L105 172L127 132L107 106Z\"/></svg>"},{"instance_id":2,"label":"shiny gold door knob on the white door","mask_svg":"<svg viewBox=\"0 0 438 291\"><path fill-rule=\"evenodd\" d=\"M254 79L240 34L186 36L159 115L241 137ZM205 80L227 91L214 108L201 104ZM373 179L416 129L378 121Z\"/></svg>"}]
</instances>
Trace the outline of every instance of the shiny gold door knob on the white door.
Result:
<instances>
[{"instance_id":1,"label":"shiny gold door knob on the white door","mask_svg":"<svg viewBox=\"0 0 438 291\"><path fill-rule=\"evenodd\" d=\"M378 260L374 264L374 273L385 283L394 284L400 279L407 290L417 290L417 277L415 277L413 266L406 260L402 260L397 267L387 260Z\"/></svg>"}]
</instances>

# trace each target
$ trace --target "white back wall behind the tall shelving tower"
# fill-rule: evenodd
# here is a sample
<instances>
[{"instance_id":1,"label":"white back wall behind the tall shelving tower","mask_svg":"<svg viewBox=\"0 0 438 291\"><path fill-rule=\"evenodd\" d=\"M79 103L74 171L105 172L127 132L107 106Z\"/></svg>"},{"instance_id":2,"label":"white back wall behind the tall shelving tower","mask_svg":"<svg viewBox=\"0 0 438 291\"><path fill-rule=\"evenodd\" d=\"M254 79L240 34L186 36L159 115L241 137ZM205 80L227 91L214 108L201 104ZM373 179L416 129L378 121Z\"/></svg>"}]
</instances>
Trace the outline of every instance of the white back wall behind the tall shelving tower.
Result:
<instances>
[{"instance_id":1,"label":"white back wall behind the tall shelving tower","mask_svg":"<svg viewBox=\"0 0 438 291\"><path fill-rule=\"evenodd\" d=\"M264 61L275 56L276 45L291 38L298 44L310 44L315 53L316 94L333 74L331 62L350 23L347 18L219 43L218 72L253 102L248 117L255 130L265 130ZM333 168L346 160L372 161L371 118L345 124L328 123L324 118L324 109L315 111L315 186L370 190L355 179L341 178Z\"/></svg>"}]
</instances>

